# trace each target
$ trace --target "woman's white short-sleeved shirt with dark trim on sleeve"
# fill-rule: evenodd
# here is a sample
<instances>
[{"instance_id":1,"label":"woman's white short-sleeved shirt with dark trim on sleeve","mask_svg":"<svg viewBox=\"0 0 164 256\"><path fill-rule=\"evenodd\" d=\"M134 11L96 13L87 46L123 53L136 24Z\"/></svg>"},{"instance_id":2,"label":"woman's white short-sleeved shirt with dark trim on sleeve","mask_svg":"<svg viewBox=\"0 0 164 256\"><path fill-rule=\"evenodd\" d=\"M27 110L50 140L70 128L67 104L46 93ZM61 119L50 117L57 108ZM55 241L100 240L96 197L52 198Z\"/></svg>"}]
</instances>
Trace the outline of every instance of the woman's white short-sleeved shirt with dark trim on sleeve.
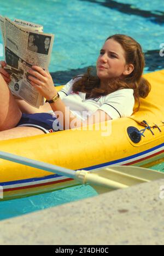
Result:
<instances>
[{"instance_id":1,"label":"woman's white short-sleeved shirt with dark trim on sleeve","mask_svg":"<svg viewBox=\"0 0 164 256\"><path fill-rule=\"evenodd\" d=\"M98 109L106 112L110 118L129 117L133 113L133 89L120 89L106 96L86 99L86 93L73 92L73 83L79 78L69 81L58 94L70 111L78 118L85 120Z\"/></svg>"}]
</instances>

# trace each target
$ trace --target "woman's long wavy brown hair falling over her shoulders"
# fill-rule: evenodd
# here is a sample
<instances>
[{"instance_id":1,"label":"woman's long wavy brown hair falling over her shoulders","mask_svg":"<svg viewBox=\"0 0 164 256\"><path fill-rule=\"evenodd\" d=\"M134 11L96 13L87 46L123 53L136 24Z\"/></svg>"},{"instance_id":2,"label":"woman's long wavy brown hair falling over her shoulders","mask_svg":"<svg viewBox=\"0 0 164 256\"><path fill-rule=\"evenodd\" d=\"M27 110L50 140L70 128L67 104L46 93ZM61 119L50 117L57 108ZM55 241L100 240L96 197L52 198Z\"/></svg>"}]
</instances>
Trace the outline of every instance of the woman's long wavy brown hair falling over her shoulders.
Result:
<instances>
[{"instance_id":1,"label":"woman's long wavy brown hair falling over her shoulders","mask_svg":"<svg viewBox=\"0 0 164 256\"><path fill-rule=\"evenodd\" d=\"M73 92L81 91L89 95L89 98L108 95L111 92L119 89L133 89L134 98L138 103L136 112L139 110L140 101L139 98L145 98L148 96L151 86L148 80L142 77L143 69L145 66L144 53L140 44L132 37L124 34L115 34L106 39L114 39L118 42L125 51L126 64L133 64L134 69L131 74L124 75L124 78L111 78L109 79L108 86L105 89L100 89L101 80L97 75L91 74L91 68L87 69L87 73L81 75L73 84Z\"/></svg>"}]
</instances>

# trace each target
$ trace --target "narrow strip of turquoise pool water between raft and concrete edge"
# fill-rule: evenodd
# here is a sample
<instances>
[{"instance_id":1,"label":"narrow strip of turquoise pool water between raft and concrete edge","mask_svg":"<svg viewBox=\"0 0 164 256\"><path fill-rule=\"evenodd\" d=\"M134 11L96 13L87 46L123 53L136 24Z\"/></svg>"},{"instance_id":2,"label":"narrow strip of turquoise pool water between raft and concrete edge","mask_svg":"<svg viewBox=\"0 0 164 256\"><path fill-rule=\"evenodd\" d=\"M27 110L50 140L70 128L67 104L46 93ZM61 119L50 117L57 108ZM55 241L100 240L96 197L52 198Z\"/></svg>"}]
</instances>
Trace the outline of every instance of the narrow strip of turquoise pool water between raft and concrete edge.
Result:
<instances>
[{"instance_id":1,"label":"narrow strip of turquoise pool water between raft and concrete edge","mask_svg":"<svg viewBox=\"0 0 164 256\"><path fill-rule=\"evenodd\" d=\"M164 172L164 164L151 167L152 170ZM57 190L51 193L0 202L0 220L44 210L63 203L96 196L97 192L90 185Z\"/></svg>"}]
</instances>

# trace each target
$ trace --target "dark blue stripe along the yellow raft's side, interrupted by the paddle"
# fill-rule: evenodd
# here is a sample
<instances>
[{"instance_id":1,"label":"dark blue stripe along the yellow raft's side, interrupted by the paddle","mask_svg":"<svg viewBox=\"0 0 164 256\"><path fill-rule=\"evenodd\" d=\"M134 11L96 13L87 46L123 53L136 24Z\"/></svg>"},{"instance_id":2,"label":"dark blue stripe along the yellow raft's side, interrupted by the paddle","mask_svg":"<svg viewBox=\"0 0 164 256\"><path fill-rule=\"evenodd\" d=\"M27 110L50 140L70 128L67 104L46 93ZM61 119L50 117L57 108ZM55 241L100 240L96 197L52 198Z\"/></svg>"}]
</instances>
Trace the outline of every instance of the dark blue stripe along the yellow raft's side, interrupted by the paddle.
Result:
<instances>
[{"instance_id":1,"label":"dark blue stripe along the yellow raft's side, interrupted by the paddle","mask_svg":"<svg viewBox=\"0 0 164 256\"><path fill-rule=\"evenodd\" d=\"M94 170L96 168L106 167L107 165L119 164L120 162L131 160L131 159L136 158L138 156L142 156L144 154L153 152L154 150L160 149L162 147L164 147L164 143L162 143L159 146L156 146L154 148L145 150L142 153L138 153L138 154L135 154L135 155L127 156L126 158L121 158L121 159L118 159L118 160L115 160L115 161L106 162L106 163L100 164L100 165L94 165L94 166L90 166L90 167L86 167L86 168L81 168L81 169L78 169L78 170L90 171L90 170ZM62 175L58 175L58 174L52 174L52 175L45 176L45 177L40 177L40 178L21 179L20 181L4 182L4 183L0 183L0 185L3 187L3 186L7 186L7 185L14 185L14 184L21 184L21 183L28 183L28 182L37 182L37 181L45 181L46 179L52 179L52 178L58 178L58 177L63 177L63 176Z\"/></svg>"}]
</instances>

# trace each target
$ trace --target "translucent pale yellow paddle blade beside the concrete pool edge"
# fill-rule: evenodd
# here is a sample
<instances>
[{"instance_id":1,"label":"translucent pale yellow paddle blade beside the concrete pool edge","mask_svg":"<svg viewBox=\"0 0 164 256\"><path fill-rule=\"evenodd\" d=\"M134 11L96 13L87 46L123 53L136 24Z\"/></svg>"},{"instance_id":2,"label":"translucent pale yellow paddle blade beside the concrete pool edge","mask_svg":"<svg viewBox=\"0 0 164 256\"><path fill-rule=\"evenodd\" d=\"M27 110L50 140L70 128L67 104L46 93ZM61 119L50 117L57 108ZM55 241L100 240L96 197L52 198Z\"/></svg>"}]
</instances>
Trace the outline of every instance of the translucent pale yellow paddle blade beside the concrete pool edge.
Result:
<instances>
[{"instance_id":1,"label":"translucent pale yellow paddle blade beside the concrete pool edge","mask_svg":"<svg viewBox=\"0 0 164 256\"><path fill-rule=\"evenodd\" d=\"M76 179L84 184L89 183L98 194L162 178L164 173L136 166L113 166L97 171L76 172Z\"/></svg>"}]
</instances>

